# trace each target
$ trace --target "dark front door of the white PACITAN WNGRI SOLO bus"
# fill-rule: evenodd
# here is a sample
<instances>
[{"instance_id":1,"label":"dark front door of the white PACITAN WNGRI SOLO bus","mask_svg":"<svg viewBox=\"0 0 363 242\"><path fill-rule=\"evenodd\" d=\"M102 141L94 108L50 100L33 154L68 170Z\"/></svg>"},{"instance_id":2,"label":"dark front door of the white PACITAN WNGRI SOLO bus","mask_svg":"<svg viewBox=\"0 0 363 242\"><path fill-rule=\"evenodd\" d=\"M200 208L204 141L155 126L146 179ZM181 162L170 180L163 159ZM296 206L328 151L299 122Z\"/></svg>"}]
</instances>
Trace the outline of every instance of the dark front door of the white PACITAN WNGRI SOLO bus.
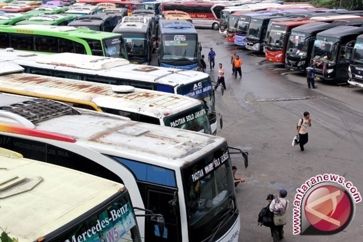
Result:
<instances>
[{"instance_id":1,"label":"dark front door of the white PACITAN WNGRI SOLO bus","mask_svg":"<svg viewBox=\"0 0 363 242\"><path fill-rule=\"evenodd\" d=\"M156 221L145 220L145 237L147 241L180 242L180 210L176 190L145 186L146 209L153 213L160 213L165 220L164 234L161 235ZM187 233L185 233L187 234Z\"/></svg>"}]
</instances>

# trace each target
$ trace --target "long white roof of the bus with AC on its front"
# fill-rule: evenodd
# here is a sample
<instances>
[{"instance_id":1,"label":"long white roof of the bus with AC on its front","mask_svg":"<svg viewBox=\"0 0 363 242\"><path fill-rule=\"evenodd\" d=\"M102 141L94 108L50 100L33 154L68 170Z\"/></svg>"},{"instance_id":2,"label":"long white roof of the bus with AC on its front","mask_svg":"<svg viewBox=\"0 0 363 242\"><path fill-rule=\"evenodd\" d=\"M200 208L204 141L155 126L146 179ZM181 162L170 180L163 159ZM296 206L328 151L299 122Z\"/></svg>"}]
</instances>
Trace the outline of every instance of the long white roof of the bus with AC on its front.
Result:
<instances>
[{"instance_id":1,"label":"long white roof of the bus with AC on its front","mask_svg":"<svg viewBox=\"0 0 363 242\"><path fill-rule=\"evenodd\" d=\"M0 53L0 59L13 60L19 65L28 66L29 63L31 63L31 66L37 66L45 69L90 73L103 77L118 77L120 73L122 73L122 78L142 80L145 83L151 82L173 87L183 85L185 82L191 83L197 80L209 78L208 74L200 71L142 66L130 64L129 61L121 58L100 57L75 53L60 53L53 55L31 53L27 55L21 51L8 52L6 50L0 50ZM61 66L60 63L64 63L64 66Z\"/></svg>"}]
</instances>

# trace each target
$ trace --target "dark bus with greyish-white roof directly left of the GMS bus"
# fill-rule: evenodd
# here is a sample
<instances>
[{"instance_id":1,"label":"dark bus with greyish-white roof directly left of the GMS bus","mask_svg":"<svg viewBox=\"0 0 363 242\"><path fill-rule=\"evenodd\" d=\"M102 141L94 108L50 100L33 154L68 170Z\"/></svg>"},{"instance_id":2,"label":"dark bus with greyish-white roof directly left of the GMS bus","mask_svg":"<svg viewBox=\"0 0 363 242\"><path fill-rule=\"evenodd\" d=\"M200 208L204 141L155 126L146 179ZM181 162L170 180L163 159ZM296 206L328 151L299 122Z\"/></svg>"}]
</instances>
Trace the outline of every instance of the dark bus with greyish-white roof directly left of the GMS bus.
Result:
<instances>
[{"instance_id":1,"label":"dark bus with greyish-white roof directly left of the GMS bus","mask_svg":"<svg viewBox=\"0 0 363 242\"><path fill-rule=\"evenodd\" d=\"M149 65L154 39L148 23L121 22L113 30L122 34L127 48L129 61L134 64Z\"/></svg>"}]
</instances>

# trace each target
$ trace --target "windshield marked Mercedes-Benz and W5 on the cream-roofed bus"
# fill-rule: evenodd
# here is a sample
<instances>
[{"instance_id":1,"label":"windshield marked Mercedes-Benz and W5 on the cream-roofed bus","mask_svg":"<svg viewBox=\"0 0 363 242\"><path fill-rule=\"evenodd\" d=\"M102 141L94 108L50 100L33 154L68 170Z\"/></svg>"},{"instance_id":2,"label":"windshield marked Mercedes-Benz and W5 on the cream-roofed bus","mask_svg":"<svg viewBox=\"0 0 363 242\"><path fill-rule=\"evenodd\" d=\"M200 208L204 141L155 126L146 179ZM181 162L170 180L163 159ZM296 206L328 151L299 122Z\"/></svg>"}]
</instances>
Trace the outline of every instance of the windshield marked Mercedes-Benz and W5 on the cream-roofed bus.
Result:
<instances>
[{"instance_id":1,"label":"windshield marked Mercedes-Benz and W5 on the cream-roofed bus","mask_svg":"<svg viewBox=\"0 0 363 242\"><path fill-rule=\"evenodd\" d=\"M97 213L85 217L76 226L50 242L75 241L74 238L79 237L83 242L141 242L129 193L124 192L116 201L97 210Z\"/></svg>"}]
</instances>

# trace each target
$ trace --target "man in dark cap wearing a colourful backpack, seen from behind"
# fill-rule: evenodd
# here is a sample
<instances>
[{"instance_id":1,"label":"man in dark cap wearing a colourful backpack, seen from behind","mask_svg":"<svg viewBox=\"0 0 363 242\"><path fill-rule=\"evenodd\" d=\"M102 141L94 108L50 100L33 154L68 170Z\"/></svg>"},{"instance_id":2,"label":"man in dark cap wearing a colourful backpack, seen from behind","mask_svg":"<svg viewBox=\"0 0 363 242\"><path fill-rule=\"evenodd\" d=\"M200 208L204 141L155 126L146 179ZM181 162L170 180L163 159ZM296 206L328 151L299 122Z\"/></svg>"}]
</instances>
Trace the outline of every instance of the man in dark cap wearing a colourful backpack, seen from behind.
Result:
<instances>
[{"instance_id":1,"label":"man in dark cap wearing a colourful backpack, seen from behind","mask_svg":"<svg viewBox=\"0 0 363 242\"><path fill-rule=\"evenodd\" d=\"M270 204L270 211L274 213L274 226L271 227L273 242L278 242L284 237L286 210L289 206L289 200L285 198L287 196L287 191L285 189L281 189L278 192L279 196L272 200Z\"/></svg>"}]
</instances>

